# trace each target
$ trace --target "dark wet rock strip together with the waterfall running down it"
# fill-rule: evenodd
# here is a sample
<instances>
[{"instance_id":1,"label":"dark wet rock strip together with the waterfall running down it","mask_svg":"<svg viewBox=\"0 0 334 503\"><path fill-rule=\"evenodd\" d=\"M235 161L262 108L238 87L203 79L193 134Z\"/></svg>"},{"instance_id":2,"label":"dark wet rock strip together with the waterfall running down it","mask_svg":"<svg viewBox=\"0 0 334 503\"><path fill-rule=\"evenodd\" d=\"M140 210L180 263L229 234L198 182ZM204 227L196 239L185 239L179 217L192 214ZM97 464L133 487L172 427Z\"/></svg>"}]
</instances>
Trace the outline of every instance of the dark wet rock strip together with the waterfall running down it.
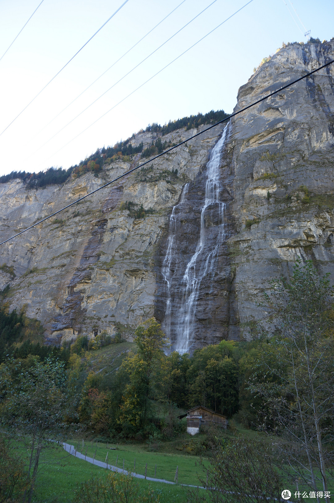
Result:
<instances>
[{"instance_id":1,"label":"dark wet rock strip together with the waterfall running down it","mask_svg":"<svg viewBox=\"0 0 334 503\"><path fill-rule=\"evenodd\" d=\"M161 240L157 267L161 295L155 315L180 353L229 336L234 308L227 246L233 233L232 197L220 166L230 129L226 126L205 169L185 185Z\"/></svg>"}]
</instances>

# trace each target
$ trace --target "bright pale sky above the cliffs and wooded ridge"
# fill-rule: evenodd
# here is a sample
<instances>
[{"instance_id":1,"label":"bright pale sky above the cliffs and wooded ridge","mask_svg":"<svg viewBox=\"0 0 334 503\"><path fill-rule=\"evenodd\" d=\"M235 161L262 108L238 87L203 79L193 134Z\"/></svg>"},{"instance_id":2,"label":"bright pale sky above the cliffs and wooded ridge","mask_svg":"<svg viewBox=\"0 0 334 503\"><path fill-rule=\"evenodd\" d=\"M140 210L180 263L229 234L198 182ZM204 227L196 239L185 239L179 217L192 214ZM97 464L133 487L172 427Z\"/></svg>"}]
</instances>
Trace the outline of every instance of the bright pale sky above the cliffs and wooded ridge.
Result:
<instances>
[{"instance_id":1,"label":"bright pale sky above the cliffs and wooded ridge","mask_svg":"<svg viewBox=\"0 0 334 503\"><path fill-rule=\"evenodd\" d=\"M0 133L7 128L0 175L67 169L149 123L212 109L230 113L239 87L282 42L306 41L308 30L321 41L334 36L332 0L252 0L246 7L249 0L128 0L14 120L124 1L43 0L38 7L41 0L0 0L0 58L38 7L0 60Z\"/></svg>"}]
</instances>

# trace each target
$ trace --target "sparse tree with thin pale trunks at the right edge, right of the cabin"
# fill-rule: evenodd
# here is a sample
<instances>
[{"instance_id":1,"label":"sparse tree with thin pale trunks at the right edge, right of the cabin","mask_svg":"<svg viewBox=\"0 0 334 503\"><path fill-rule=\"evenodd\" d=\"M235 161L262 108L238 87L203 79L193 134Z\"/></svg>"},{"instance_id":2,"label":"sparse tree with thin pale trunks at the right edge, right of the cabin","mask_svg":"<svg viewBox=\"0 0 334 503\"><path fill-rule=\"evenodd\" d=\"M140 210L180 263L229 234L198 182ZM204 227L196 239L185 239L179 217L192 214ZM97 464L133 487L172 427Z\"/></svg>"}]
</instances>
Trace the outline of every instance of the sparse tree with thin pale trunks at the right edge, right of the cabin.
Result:
<instances>
[{"instance_id":1,"label":"sparse tree with thin pale trunks at the right edge, right of the cabin","mask_svg":"<svg viewBox=\"0 0 334 503\"><path fill-rule=\"evenodd\" d=\"M268 301L280 316L280 337L271 344L279 363L267 358L250 378L253 396L266 403L290 469L317 490L327 490L333 460L334 340L329 275L297 261L290 282L274 285ZM260 412L261 413L261 412ZM284 439L286 442L284 442Z\"/></svg>"}]
</instances>

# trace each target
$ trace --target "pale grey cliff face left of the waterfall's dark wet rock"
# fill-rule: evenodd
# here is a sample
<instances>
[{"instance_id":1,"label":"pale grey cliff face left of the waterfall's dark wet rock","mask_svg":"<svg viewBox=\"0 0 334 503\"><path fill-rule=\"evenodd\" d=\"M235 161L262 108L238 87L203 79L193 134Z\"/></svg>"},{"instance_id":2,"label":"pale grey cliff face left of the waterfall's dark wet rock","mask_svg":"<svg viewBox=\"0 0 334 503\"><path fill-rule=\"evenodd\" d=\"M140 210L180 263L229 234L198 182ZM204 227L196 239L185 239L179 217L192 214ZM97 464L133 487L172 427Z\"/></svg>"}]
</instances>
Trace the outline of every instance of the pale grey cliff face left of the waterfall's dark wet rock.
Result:
<instances>
[{"instance_id":1,"label":"pale grey cliff face left of the waterfall's dark wet rock","mask_svg":"<svg viewBox=\"0 0 334 503\"><path fill-rule=\"evenodd\" d=\"M28 316L42 321L46 339L57 343L74 340L78 333L93 336L106 330L112 334L116 322L136 326L153 316L159 240L182 187L205 166L221 130L222 126L211 129L191 145L160 157L153 166L139 169L2 245L0 289L10 285L6 297L10 309L25 305ZM164 140L178 143L194 133L175 131ZM143 141L146 147L153 139L154 134L140 133L133 144ZM86 174L63 186L38 190L26 190L19 180L1 184L1 240L130 167L116 161L104 166L101 179ZM122 209L122 203L129 201L153 212L136 219Z\"/></svg>"}]
</instances>

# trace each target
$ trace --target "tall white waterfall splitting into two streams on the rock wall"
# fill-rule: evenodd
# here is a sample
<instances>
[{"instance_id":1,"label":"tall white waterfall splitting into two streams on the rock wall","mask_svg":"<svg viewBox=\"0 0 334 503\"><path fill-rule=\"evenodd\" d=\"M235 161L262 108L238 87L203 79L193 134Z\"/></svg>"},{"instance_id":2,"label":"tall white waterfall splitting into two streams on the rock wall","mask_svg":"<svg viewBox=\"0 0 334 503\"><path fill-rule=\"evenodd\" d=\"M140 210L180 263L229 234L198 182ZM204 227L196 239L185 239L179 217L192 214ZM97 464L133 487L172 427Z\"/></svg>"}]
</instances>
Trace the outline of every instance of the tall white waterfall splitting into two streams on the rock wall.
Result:
<instances>
[{"instance_id":1,"label":"tall white waterfall splitting into two streams on the rock wall","mask_svg":"<svg viewBox=\"0 0 334 503\"><path fill-rule=\"evenodd\" d=\"M172 342L173 350L181 354L189 352L191 349L191 335L196 317L200 284L204 278L209 278L210 284L213 284L215 261L219 255L221 244L226 240L224 222L226 203L221 201L224 187L219 180L219 165L227 131L228 127L224 129L221 138L213 147L204 172L207 179L205 199L203 198L200 210L199 237L194 253L187 257L187 263L183 264L182 272L180 271L181 264L178 264L182 247L179 242L179 234L182 228L182 212L186 205L189 206L187 200L189 184L184 186L180 201L174 206L169 220L167 251L162 265L162 277L166 289L166 309L162 326ZM209 225L207 222L211 223L210 240L207 239L207 226ZM214 223L212 224L212 222Z\"/></svg>"}]
</instances>

